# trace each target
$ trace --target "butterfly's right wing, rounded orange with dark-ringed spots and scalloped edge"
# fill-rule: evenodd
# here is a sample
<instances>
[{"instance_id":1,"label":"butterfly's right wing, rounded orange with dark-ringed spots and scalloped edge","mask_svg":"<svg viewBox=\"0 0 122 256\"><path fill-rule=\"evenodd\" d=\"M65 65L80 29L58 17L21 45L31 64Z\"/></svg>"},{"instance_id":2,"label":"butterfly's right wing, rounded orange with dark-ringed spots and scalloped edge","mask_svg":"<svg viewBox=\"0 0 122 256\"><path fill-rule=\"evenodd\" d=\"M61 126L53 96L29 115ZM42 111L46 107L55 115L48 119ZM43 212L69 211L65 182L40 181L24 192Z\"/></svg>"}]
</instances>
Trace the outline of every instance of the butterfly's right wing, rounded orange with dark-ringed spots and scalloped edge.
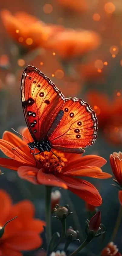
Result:
<instances>
[{"instance_id":1,"label":"butterfly's right wing, rounded orange with dark-ringed spots and scalloped edge","mask_svg":"<svg viewBox=\"0 0 122 256\"><path fill-rule=\"evenodd\" d=\"M97 138L97 118L90 106L80 98L66 99L64 116L49 136L52 148L81 153L81 149L94 143Z\"/></svg>"}]
</instances>

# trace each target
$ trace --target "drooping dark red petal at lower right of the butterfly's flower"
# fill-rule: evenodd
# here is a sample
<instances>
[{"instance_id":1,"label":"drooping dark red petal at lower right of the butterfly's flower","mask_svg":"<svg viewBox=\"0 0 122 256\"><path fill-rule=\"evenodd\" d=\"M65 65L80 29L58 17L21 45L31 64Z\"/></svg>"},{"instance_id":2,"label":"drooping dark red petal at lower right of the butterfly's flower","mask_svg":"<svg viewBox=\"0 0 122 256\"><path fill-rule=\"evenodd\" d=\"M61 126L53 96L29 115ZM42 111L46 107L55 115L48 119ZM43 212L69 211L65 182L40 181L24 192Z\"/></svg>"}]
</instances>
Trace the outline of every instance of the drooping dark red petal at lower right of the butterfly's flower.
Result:
<instances>
[{"instance_id":1,"label":"drooping dark red petal at lower right of the butterfly's flower","mask_svg":"<svg viewBox=\"0 0 122 256\"><path fill-rule=\"evenodd\" d=\"M102 198L98 190L90 182L66 176L63 176L62 180L71 192L81 197L87 203L94 206L100 206L102 204Z\"/></svg>"}]
</instances>

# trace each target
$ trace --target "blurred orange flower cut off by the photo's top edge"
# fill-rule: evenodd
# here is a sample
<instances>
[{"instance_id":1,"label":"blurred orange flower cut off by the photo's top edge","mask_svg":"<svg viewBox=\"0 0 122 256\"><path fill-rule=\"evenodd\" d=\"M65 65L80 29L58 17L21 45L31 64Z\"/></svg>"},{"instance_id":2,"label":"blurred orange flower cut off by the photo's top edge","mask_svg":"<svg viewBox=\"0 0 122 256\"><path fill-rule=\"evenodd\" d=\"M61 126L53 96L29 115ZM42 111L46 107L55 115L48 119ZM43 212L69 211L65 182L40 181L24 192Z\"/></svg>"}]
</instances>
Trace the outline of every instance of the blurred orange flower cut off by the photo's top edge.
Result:
<instances>
[{"instance_id":1,"label":"blurred orange flower cut off by the photo's top edge","mask_svg":"<svg viewBox=\"0 0 122 256\"><path fill-rule=\"evenodd\" d=\"M87 9L87 3L85 0L56 0L56 2L58 2L62 7L68 10L71 9L76 12L82 12Z\"/></svg>"}]
</instances>

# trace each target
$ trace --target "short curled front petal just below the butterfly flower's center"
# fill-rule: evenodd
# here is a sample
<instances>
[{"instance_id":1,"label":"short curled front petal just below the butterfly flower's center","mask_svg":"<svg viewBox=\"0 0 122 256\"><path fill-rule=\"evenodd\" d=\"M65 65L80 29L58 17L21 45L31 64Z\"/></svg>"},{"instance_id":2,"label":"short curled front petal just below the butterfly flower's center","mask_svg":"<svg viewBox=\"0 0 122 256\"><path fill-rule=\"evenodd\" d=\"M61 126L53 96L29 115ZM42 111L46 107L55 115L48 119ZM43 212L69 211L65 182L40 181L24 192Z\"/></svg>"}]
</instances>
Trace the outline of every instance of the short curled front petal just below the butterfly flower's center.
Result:
<instances>
[{"instance_id":1,"label":"short curled front petal just below the butterfly flower's center","mask_svg":"<svg viewBox=\"0 0 122 256\"><path fill-rule=\"evenodd\" d=\"M37 181L39 184L43 184L45 186L54 186L61 187L63 189L67 189L67 185L65 182L61 182L57 177L53 174L47 174L43 172L43 169L40 169L37 174Z\"/></svg>"}]
</instances>

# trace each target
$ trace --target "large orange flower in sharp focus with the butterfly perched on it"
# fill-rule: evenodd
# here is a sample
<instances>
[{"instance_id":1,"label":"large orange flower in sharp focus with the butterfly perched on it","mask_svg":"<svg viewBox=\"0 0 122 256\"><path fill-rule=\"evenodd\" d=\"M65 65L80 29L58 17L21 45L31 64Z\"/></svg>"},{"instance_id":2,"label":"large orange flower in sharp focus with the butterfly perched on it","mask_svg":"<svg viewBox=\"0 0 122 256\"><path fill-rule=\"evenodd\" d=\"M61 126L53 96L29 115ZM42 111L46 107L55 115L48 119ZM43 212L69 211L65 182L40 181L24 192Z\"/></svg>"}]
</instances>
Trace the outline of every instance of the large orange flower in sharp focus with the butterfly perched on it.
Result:
<instances>
[{"instance_id":1,"label":"large orange flower in sharp focus with the butterfly perched on it","mask_svg":"<svg viewBox=\"0 0 122 256\"><path fill-rule=\"evenodd\" d=\"M22 134L32 141L27 128ZM54 151L60 157L60 162L52 152L42 152L34 157L28 146L12 150L27 143L27 140L23 141L11 132L4 132L3 139L0 139L0 149L11 159L0 158L0 166L18 171L21 178L34 184L69 189L88 203L101 205L102 198L97 189L90 182L77 177L110 178L111 175L102 172L100 168L106 163L104 158L95 155L81 157L74 153L64 155Z\"/></svg>"}]
</instances>

